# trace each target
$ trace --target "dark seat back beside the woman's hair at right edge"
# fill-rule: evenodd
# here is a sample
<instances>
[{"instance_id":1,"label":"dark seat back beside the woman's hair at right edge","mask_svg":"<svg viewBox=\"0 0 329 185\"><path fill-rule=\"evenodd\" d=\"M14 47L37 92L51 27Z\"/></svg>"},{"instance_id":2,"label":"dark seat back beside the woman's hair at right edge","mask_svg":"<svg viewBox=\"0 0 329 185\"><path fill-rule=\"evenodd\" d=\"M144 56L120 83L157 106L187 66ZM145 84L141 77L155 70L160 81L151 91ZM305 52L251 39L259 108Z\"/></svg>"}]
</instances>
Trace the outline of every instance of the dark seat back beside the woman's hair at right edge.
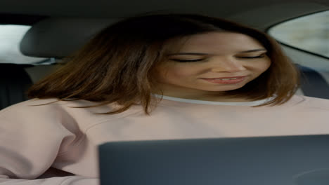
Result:
<instances>
[{"instance_id":1,"label":"dark seat back beside the woman's hair at right edge","mask_svg":"<svg viewBox=\"0 0 329 185\"><path fill-rule=\"evenodd\" d=\"M329 100L329 85L325 78L317 71L309 67L296 64L300 69L301 75L301 88L305 96L318 97Z\"/></svg>"}]
</instances>

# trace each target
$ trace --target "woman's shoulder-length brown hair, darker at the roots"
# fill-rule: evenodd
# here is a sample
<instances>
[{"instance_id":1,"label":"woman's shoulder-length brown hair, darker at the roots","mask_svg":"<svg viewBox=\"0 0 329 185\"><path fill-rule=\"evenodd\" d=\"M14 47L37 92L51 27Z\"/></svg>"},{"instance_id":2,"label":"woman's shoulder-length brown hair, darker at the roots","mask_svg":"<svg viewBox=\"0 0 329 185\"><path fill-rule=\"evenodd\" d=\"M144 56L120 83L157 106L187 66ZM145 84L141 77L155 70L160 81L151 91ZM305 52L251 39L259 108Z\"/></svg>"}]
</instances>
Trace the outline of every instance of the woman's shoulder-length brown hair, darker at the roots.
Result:
<instances>
[{"instance_id":1,"label":"woman's shoulder-length brown hair, darker at the roots","mask_svg":"<svg viewBox=\"0 0 329 185\"><path fill-rule=\"evenodd\" d=\"M150 105L156 102L151 95L157 84L155 67L166 59L167 50L188 36L223 30L257 39L271 59L271 66L263 74L242 88L224 92L224 96L255 101L276 95L270 102L254 107L288 102L300 86L300 72L275 39L236 22L181 13L146 13L110 25L67 57L63 67L32 85L27 95L100 102L92 107L120 104L119 109L103 114L121 113L138 102L150 115Z\"/></svg>"}]
</instances>

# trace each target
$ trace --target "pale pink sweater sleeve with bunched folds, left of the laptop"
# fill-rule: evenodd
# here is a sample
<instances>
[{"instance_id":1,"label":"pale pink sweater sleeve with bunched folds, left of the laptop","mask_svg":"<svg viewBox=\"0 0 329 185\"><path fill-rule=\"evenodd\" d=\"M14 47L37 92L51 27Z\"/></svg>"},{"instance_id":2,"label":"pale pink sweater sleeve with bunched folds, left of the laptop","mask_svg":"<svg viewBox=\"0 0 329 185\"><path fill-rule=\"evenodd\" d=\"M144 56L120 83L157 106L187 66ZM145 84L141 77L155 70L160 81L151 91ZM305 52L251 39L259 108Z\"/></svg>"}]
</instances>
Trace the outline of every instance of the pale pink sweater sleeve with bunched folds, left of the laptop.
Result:
<instances>
[{"instance_id":1,"label":"pale pink sweater sleeve with bunched folds, left of the laptop","mask_svg":"<svg viewBox=\"0 0 329 185\"><path fill-rule=\"evenodd\" d=\"M37 179L77 136L63 126L74 121L60 106L28 106L0 111L0 185L98 185L98 178L67 176ZM66 123L67 124L67 123Z\"/></svg>"}]
</instances>

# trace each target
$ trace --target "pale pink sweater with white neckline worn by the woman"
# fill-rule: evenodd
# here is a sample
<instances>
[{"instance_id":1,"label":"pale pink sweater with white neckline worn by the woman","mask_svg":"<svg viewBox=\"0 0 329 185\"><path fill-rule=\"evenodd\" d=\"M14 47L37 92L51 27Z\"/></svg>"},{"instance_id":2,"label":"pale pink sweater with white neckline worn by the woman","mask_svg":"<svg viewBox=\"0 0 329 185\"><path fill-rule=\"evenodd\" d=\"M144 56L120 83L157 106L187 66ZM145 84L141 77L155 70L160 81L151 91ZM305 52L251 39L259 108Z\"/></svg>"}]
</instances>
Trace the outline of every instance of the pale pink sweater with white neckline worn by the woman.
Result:
<instances>
[{"instance_id":1,"label":"pale pink sweater with white neckline worn by the woman","mask_svg":"<svg viewBox=\"0 0 329 185\"><path fill-rule=\"evenodd\" d=\"M329 100L294 95L280 106L164 97L146 116L140 105L96 115L111 105L86 100L28 100L0 111L0 184L96 185L97 146L150 139L316 135L329 133ZM264 100L266 101L266 100ZM113 104L112 104L113 106Z\"/></svg>"}]
</instances>

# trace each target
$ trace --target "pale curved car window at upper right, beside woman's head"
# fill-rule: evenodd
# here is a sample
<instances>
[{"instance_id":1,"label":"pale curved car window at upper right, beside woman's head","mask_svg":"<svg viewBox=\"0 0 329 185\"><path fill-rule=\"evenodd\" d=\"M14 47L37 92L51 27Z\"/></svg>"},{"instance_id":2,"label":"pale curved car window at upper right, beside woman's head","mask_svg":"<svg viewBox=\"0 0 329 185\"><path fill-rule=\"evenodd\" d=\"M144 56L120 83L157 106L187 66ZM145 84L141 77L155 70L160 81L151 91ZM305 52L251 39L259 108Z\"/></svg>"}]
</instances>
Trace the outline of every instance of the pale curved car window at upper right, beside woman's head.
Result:
<instances>
[{"instance_id":1,"label":"pale curved car window at upper right, beside woman's head","mask_svg":"<svg viewBox=\"0 0 329 185\"><path fill-rule=\"evenodd\" d=\"M280 23L269 34L280 43L329 57L329 11Z\"/></svg>"}]
</instances>

